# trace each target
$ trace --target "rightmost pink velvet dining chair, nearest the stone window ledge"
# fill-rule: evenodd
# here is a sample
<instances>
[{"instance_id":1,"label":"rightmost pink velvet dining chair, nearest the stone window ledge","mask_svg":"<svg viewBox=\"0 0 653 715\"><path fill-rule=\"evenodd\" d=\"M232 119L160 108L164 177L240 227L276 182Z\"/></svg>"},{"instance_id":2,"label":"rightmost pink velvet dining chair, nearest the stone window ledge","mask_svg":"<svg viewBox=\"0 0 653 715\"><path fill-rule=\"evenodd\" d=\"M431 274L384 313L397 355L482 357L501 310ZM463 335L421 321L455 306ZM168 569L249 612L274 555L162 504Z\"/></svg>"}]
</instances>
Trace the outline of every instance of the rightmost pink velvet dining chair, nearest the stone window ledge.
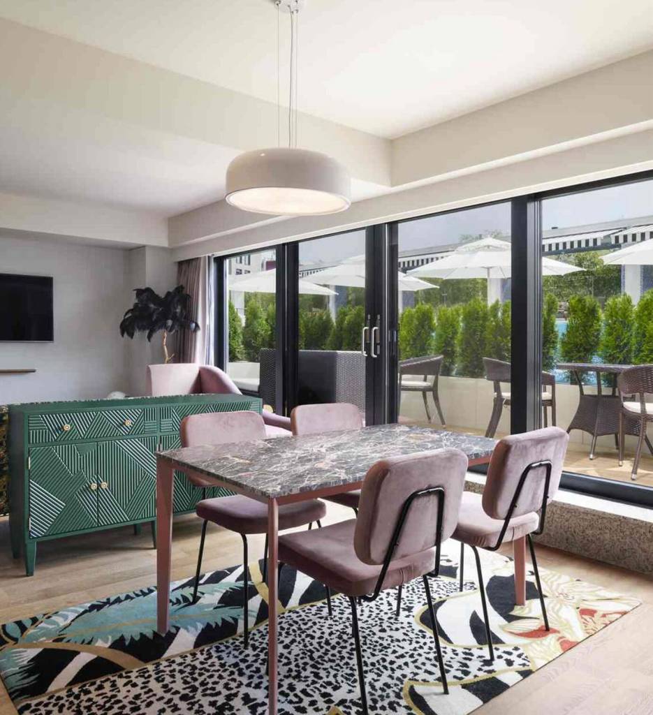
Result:
<instances>
[{"instance_id":1,"label":"rightmost pink velvet dining chair, nearest the stone window ledge","mask_svg":"<svg viewBox=\"0 0 653 715\"><path fill-rule=\"evenodd\" d=\"M494 649L478 549L496 551L502 543L526 536L544 627L549 631L549 618L546 616L544 593L531 534L538 535L544 531L546 505L558 490L568 442L569 435L559 427L506 437L497 443L492 453L483 495L471 492L463 494L458 526L453 532L453 538L461 542L458 574L460 590L463 590L467 544L471 546L476 558L478 590L481 591L481 606L491 660L494 660Z\"/></svg>"}]
</instances>

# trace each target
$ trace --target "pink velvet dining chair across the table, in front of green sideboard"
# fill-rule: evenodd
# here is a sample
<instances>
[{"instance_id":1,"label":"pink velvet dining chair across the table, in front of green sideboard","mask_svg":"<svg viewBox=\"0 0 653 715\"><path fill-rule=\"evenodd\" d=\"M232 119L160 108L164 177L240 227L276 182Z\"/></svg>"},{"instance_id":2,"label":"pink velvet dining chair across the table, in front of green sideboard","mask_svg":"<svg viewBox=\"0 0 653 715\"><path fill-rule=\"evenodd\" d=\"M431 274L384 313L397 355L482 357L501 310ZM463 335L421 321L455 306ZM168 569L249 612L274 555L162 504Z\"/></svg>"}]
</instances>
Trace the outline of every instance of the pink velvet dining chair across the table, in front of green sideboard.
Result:
<instances>
[{"instance_id":1,"label":"pink velvet dining chair across the table, in front of green sideboard","mask_svg":"<svg viewBox=\"0 0 653 715\"><path fill-rule=\"evenodd\" d=\"M182 447L194 447L207 444L228 444L232 442L247 442L264 440L265 424L261 415L255 412L225 412L206 413L203 415L189 415L182 420L180 425ZM210 480L201 477L189 477L195 486L206 490L213 485ZM250 584L247 577L247 534L265 533L265 553L263 561L263 580L266 578L267 564L267 505L250 499L240 494L207 499L206 491L202 501L197 503L197 516L204 520L202 523L202 537L200 538L200 553L197 556L197 571L195 572L195 587L193 588L192 603L197 602L197 590L200 584L202 570L202 555L206 538L207 523L211 521L217 526L235 531L242 538L242 638L245 648L248 639L247 606L249 601ZM304 526L315 521L321 528L320 519L325 516L325 503L318 499L300 501L293 504L283 504L279 507L279 531ZM327 593L329 613L331 611L330 593Z\"/></svg>"}]
</instances>

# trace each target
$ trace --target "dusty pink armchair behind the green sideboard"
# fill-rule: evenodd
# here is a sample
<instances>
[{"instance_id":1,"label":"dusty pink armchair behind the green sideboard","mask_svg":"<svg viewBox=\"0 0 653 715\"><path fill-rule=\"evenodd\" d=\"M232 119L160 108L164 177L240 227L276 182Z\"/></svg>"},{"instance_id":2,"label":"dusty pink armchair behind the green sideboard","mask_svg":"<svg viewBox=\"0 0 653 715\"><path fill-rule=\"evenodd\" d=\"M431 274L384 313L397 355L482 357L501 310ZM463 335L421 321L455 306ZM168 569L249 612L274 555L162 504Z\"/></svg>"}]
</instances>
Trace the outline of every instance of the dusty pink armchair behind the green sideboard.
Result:
<instances>
[{"instance_id":1,"label":"dusty pink armchair behind the green sideboard","mask_svg":"<svg viewBox=\"0 0 653 715\"><path fill-rule=\"evenodd\" d=\"M242 395L234 381L220 368L195 363L147 366L147 391L159 395ZM267 437L290 437L290 418L262 412Z\"/></svg>"}]
</instances>

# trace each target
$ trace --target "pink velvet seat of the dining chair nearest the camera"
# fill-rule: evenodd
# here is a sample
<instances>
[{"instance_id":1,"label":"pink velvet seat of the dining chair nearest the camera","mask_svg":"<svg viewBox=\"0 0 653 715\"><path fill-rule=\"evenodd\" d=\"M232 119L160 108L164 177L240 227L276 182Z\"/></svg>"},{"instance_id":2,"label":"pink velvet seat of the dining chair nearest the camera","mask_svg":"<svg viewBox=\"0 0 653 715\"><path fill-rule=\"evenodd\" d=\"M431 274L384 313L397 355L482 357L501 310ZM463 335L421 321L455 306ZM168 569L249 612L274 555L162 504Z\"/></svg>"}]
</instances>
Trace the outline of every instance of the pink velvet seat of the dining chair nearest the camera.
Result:
<instances>
[{"instance_id":1,"label":"pink velvet seat of the dining chair nearest the camera","mask_svg":"<svg viewBox=\"0 0 653 715\"><path fill-rule=\"evenodd\" d=\"M356 520L341 521L313 531L296 531L279 537L279 561L293 566L345 596L372 593L381 571L360 561L354 551ZM399 586L432 571L436 550L391 561L383 588Z\"/></svg>"}]
</instances>

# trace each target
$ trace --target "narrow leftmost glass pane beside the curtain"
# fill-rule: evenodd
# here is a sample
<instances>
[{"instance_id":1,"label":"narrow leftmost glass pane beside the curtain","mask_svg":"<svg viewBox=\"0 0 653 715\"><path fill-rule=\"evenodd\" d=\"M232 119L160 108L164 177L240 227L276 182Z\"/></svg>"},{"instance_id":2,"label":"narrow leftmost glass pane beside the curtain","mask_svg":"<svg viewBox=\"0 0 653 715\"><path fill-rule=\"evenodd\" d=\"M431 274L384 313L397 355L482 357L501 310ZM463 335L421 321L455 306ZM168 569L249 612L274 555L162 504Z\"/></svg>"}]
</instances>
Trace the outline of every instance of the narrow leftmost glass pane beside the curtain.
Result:
<instances>
[{"instance_id":1,"label":"narrow leftmost glass pane beside the curtain","mask_svg":"<svg viewBox=\"0 0 653 715\"><path fill-rule=\"evenodd\" d=\"M275 250L227 260L229 366L227 373L247 395L275 406Z\"/></svg>"}]
</instances>

